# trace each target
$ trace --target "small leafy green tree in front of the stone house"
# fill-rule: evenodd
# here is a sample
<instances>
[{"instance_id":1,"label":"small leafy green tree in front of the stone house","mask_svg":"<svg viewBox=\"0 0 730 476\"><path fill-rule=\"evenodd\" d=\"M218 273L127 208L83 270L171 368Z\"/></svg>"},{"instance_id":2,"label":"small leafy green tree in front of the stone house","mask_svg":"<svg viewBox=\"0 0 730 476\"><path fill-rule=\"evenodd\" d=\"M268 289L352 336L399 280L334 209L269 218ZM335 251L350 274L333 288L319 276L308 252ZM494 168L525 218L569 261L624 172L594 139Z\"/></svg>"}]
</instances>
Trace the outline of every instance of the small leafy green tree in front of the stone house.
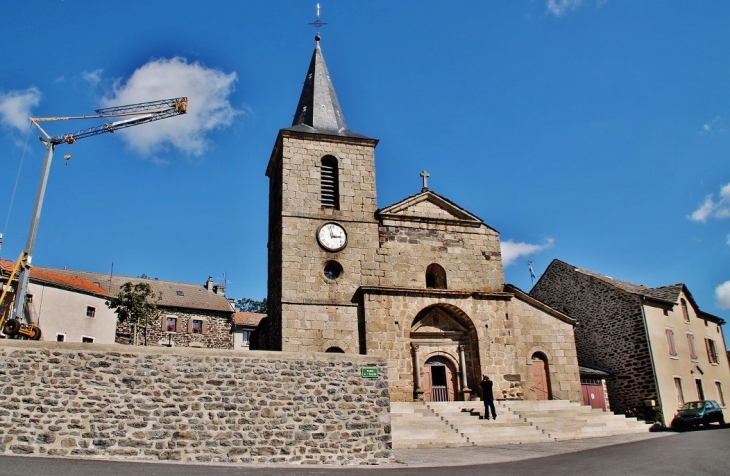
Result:
<instances>
[{"instance_id":1,"label":"small leafy green tree in front of the stone house","mask_svg":"<svg viewBox=\"0 0 730 476\"><path fill-rule=\"evenodd\" d=\"M156 298L156 302L153 299ZM137 344L137 328L142 326L145 329L150 321L157 318L157 303L162 299L162 293L152 290L152 286L147 283L132 284L124 283L116 297L106 302L109 309L114 311L119 322L128 322L132 326L132 343Z\"/></svg>"}]
</instances>

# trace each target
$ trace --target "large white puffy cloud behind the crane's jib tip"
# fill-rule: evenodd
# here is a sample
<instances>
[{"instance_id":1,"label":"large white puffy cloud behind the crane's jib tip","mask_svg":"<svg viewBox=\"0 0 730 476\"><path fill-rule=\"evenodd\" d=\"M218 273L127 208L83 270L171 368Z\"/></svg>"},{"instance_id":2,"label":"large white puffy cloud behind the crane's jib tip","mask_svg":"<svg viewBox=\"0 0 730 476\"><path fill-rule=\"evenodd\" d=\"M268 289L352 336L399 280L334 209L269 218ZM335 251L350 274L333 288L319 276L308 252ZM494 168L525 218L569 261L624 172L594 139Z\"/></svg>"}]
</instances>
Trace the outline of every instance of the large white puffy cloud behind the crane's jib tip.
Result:
<instances>
[{"instance_id":1,"label":"large white puffy cloud behind the crane's jib tip","mask_svg":"<svg viewBox=\"0 0 730 476\"><path fill-rule=\"evenodd\" d=\"M236 73L188 63L185 58L155 59L138 68L126 81L117 80L105 107L123 106L181 96L188 98L188 113L120 131L127 145L143 155L170 146L200 156L207 147L206 133L229 126L242 111L231 106L229 96Z\"/></svg>"}]
</instances>

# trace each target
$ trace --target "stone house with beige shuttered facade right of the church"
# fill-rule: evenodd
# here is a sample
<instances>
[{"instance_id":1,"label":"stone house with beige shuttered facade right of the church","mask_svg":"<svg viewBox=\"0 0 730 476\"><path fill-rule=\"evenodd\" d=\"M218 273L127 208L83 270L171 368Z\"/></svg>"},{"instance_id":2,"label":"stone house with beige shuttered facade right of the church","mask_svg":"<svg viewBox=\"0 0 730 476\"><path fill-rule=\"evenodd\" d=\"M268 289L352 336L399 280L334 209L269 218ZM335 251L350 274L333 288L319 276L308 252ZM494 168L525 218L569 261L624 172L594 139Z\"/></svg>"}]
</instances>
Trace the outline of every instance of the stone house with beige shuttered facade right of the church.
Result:
<instances>
[{"instance_id":1,"label":"stone house with beige shuttered facade right of the church","mask_svg":"<svg viewBox=\"0 0 730 476\"><path fill-rule=\"evenodd\" d=\"M726 408L730 367L722 325L684 284L650 288L553 260L530 295L578 321L578 361L611 373L615 412L652 401L670 423L685 401Z\"/></svg>"}]
</instances>

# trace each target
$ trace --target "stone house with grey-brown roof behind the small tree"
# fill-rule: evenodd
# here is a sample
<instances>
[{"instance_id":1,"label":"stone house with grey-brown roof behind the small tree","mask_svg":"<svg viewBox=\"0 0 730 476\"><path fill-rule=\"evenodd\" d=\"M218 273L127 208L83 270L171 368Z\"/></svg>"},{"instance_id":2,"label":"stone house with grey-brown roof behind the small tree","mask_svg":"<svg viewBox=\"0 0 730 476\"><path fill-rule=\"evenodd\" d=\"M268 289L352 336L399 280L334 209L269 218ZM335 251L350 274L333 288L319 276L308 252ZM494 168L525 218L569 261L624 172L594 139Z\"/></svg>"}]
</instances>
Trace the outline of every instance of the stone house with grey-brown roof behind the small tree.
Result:
<instances>
[{"instance_id":1,"label":"stone house with grey-brown roof behind the small tree","mask_svg":"<svg viewBox=\"0 0 730 476\"><path fill-rule=\"evenodd\" d=\"M110 295L117 295L127 282L149 284L160 297L157 302L160 315L156 323L139 329L138 343L142 345L233 348L233 305L223 288L213 284L212 278L199 285L87 271L57 269L54 272L91 281ZM133 342L132 328L126 322L116 324L116 342Z\"/></svg>"}]
</instances>

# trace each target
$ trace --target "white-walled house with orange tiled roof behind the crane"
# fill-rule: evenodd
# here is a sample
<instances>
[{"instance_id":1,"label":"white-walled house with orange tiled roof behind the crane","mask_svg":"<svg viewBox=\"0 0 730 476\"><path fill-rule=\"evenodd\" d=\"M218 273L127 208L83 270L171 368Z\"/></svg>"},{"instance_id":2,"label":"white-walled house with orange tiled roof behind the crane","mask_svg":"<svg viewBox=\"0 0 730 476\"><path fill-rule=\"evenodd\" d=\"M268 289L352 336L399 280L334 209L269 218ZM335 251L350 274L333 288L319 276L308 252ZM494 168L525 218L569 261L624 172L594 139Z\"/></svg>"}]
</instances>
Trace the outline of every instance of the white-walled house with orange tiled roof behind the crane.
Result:
<instances>
[{"instance_id":1,"label":"white-walled house with orange tiled roof behind the crane","mask_svg":"<svg viewBox=\"0 0 730 476\"><path fill-rule=\"evenodd\" d=\"M0 260L2 286L14 265ZM106 306L107 299L109 293L92 281L34 267L28 281L26 313L30 312L41 329L40 340L112 344L117 316ZM3 305L12 306L12 301L6 301Z\"/></svg>"}]
</instances>

